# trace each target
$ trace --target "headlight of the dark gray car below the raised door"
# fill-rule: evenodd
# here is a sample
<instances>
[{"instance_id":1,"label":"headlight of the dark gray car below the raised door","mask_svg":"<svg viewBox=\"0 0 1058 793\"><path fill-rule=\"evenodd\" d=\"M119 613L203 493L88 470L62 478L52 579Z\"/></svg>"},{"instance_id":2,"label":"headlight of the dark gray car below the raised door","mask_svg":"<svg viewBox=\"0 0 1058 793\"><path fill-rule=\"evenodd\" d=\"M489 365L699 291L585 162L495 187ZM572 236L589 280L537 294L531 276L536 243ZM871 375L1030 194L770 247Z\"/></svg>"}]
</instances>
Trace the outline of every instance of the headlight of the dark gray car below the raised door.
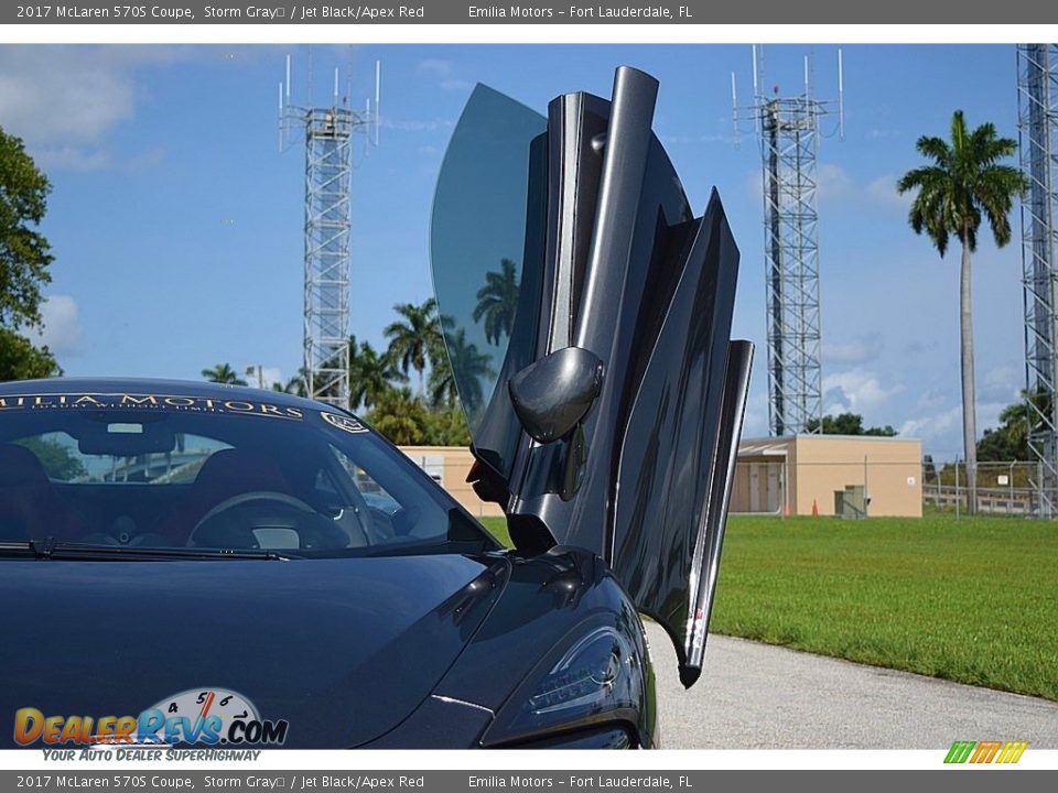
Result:
<instances>
[{"instance_id":1,"label":"headlight of the dark gray car below the raised door","mask_svg":"<svg viewBox=\"0 0 1058 793\"><path fill-rule=\"evenodd\" d=\"M538 666L529 681L496 715L484 742L535 740L620 721L633 727L644 705L643 659L608 626L576 638L558 661Z\"/></svg>"}]
</instances>

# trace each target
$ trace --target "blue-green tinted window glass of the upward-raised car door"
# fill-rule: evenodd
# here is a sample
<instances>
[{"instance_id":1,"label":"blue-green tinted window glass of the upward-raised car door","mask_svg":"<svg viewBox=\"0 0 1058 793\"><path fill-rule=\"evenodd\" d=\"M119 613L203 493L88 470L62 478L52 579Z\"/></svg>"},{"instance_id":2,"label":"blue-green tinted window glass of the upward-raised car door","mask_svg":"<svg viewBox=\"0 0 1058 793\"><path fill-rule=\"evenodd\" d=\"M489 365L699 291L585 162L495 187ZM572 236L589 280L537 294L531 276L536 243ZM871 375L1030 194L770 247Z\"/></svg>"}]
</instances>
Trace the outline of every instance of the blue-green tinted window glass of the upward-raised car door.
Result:
<instances>
[{"instance_id":1,"label":"blue-green tinted window glass of the upward-raised car door","mask_svg":"<svg viewBox=\"0 0 1058 793\"><path fill-rule=\"evenodd\" d=\"M547 119L486 86L471 96L434 194L441 329L478 455L506 472L518 427L487 422L496 383L536 351L547 208ZM519 312L519 306L531 311Z\"/></svg>"}]
</instances>

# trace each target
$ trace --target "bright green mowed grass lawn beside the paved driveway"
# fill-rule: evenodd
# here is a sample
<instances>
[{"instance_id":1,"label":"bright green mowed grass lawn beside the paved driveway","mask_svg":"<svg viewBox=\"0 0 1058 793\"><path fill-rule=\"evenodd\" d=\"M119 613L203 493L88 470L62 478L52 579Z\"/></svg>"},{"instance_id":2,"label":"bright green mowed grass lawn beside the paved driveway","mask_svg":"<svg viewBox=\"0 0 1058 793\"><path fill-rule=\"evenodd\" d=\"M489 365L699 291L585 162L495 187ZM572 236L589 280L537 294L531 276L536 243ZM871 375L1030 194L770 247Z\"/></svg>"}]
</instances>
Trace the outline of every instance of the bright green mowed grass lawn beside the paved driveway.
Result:
<instances>
[{"instance_id":1,"label":"bright green mowed grass lawn beside the paved driveway","mask_svg":"<svg viewBox=\"0 0 1058 793\"><path fill-rule=\"evenodd\" d=\"M1058 700L1058 524L734 517L712 630Z\"/></svg>"}]
</instances>

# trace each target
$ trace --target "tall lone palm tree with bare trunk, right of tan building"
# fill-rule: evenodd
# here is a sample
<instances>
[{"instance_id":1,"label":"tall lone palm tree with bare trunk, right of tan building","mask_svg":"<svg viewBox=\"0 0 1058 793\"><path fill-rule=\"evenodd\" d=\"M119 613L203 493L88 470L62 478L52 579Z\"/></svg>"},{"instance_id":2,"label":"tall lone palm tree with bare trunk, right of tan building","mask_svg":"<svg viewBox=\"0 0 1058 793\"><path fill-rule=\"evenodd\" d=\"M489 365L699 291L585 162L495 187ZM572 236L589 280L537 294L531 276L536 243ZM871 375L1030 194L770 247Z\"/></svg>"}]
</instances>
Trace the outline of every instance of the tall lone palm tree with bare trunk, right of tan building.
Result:
<instances>
[{"instance_id":1,"label":"tall lone palm tree with bare trunk, right of tan building","mask_svg":"<svg viewBox=\"0 0 1058 793\"><path fill-rule=\"evenodd\" d=\"M995 126L967 129L962 110L951 117L951 142L922 135L915 144L931 164L913 169L897 183L903 194L917 189L908 222L915 233L925 231L943 258L948 239L962 245L959 272L959 330L962 358L962 442L970 484L970 511L976 510L976 411L973 383L973 322L970 304L970 254L978 247L978 229L987 218L1000 248L1011 241L1010 213L1014 198L1027 187L1025 175L1000 160L1017 151L1017 141L997 138Z\"/></svg>"}]
</instances>

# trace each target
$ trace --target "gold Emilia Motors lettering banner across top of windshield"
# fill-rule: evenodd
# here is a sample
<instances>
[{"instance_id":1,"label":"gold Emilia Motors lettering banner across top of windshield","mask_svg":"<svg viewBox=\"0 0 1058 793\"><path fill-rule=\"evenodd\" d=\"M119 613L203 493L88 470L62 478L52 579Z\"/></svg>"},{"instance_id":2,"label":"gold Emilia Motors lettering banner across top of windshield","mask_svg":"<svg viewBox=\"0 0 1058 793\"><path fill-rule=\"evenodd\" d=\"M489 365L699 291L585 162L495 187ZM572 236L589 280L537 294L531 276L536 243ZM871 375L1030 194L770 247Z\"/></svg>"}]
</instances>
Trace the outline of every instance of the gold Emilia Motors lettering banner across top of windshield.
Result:
<instances>
[{"instance_id":1,"label":"gold Emilia Motors lettering banner across top of windshield","mask_svg":"<svg viewBox=\"0 0 1058 793\"><path fill-rule=\"evenodd\" d=\"M0 397L0 412L42 410L162 410L187 413L223 413L300 421L300 408L269 402L187 397L183 394L138 393L52 393Z\"/></svg>"}]
</instances>

